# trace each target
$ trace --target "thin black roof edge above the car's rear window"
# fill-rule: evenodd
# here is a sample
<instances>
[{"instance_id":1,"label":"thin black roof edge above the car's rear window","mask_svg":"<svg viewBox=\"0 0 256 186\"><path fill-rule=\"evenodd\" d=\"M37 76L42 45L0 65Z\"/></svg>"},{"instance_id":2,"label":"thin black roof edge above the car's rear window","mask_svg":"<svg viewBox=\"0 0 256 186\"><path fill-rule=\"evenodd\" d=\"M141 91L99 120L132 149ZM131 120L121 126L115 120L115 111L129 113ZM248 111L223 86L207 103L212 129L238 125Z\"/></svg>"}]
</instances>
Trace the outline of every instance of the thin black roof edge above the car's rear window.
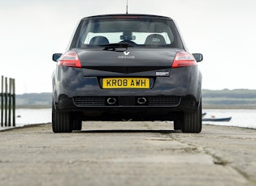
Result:
<instances>
[{"instance_id":1,"label":"thin black roof edge above the car's rear window","mask_svg":"<svg viewBox=\"0 0 256 186\"><path fill-rule=\"evenodd\" d=\"M117 19L117 18L144 18L144 19L167 19L172 20L169 17L161 15L139 15L139 14L114 14L114 15L93 15L83 18L85 19Z\"/></svg>"}]
</instances>

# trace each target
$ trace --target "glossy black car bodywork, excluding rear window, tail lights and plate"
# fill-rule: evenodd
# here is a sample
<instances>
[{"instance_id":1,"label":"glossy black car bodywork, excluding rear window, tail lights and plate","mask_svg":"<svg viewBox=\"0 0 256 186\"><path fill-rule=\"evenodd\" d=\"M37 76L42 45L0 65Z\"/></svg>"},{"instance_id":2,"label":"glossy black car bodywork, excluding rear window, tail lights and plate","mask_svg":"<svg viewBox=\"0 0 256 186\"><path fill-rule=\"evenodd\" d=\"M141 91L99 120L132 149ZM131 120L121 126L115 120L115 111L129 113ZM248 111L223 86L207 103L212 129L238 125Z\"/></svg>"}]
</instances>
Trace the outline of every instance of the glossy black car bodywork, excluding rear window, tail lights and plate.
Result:
<instances>
[{"instance_id":1,"label":"glossy black car bodywork, excluding rear window, tail lights and plate","mask_svg":"<svg viewBox=\"0 0 256 186\"><path fill-rule=\"evenodd\" d=\"M78 120L79 125L80 120L175 120L179 123L176 128L182 129L180 122L184 122L184 114L197 112L202 107L202 74L197 65L171 69L176 53L186 51L181 38L182 48L76 48L83 22L116 16L172 21L152 15L102 15L82 19L68 48L78 54L82 68L56 66L53 74L53 112L71 113L70 117ZM130 52L127 56L132 58L124 55L127 50ZM54 54L53 60L57 61L60 55ZM194 57L202 61L202 54L195 54ZM150 78L150 89L103 89L102 78L108 77ZM107 103L107 99L111 98L116 99L115 104ZM145 104L137 103L141 98L145 98ZM53 118L53 122L56 120ZM184 132L199 133L201 125L199 128ZM54 132L71 131L54 129Z\"/></svg>"}]
</instances>

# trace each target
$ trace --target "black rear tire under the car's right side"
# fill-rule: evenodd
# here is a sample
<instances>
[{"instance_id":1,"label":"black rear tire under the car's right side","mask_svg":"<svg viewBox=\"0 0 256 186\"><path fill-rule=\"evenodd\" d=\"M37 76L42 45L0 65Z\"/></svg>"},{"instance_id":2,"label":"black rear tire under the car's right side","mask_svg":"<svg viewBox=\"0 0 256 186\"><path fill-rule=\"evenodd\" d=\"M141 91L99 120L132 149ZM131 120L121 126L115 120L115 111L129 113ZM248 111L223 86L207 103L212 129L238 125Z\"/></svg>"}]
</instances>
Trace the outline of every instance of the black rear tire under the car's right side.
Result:
<instances>
[{"instance_id":1,"label":"black rear tire under the car's right side","mask_svg":"<svg viewBox=\"0 0 256 186\"><path fill-rule=\"evenodd\" d=\"M202 101L196 112L184 113L181 131L183 133L200 133L202 130Z\"/></svg>"}]
</instances>

